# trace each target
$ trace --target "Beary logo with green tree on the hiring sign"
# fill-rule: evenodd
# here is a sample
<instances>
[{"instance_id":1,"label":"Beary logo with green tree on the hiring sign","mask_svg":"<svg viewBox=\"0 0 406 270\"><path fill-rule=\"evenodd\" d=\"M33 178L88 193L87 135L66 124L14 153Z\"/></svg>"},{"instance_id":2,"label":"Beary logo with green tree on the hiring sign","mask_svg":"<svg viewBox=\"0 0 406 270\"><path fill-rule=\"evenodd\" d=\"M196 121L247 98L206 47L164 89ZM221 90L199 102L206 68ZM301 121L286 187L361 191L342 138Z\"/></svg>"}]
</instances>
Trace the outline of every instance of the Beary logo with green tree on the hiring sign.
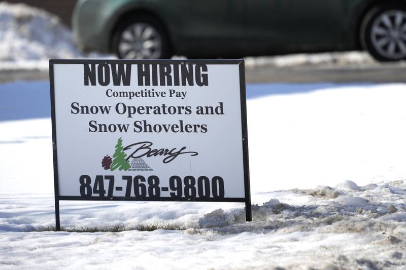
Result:
<instances>
[{"instance_id":1,"label":"Beary logo with green tree on the hiring sign","mask_svg":"<svg viewBox=\"0 0 406 270\"><path fill-rule=\"evenodd\" d=\"M142 141L137 143L132 143L127 146L123 146L123 139L120 137L117 140L115 146L116 150L113 154L113 158L109 155L106 155L101 161L101 167L105 170L119 170L119 171L153 171L142 157L163 157L163 163L170 163L175 160L178 156L184 154L190 154L190 156L197 156L198 153L195 151L185 151L186 146L183 146L180 149L177 148L153 148L153 143L149 141ZM127 152L129 155L127 157ZM132 159L130 163L130 159Z\"/></svg>"}]
</instances>

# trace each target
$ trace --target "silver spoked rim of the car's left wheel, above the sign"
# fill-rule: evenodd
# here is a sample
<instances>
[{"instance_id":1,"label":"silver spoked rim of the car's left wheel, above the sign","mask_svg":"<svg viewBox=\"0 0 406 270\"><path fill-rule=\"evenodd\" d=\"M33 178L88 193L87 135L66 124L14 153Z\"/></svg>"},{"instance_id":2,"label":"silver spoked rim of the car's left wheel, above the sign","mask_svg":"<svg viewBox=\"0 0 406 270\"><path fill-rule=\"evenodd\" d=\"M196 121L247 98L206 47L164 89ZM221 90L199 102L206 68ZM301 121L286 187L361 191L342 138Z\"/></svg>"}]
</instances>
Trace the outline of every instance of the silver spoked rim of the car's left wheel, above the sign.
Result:
<instances>
[{"instance_id":1,"label":"silver spoked rim of the car's left wheel, above the sign","mask_svg":"<svg viewBox=\"0 0 406 270\"><path fill-rule=\"evenodd\" d=\"M148 23L131 24L121 33L118 53L126 59L157 59L162 54L162 38Z\"/></svg>"}]
</instances>

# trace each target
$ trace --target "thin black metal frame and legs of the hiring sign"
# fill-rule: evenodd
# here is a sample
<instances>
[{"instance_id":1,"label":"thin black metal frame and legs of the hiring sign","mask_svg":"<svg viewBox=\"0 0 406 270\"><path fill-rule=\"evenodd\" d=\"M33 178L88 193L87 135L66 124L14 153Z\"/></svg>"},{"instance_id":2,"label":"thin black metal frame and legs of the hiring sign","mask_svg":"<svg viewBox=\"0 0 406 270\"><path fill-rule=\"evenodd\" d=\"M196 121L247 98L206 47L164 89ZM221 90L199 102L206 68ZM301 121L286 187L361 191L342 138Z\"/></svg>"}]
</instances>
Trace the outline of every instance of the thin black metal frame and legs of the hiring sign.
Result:
<instances>
[{"instance_id":1,"label":"thin black metal frame and legs of the hiring sign","mask_svg":"<svg viewBox=\"0 0 406 270\"><path fill-rule=\"evenodd\" d=\"M244 166L245 198L137 198L137 197L81 197L81 196L59 196L58 187L58 158L56 138L56 117L55 117L55 85L54 85L54 64L238 64L240 72L240 101L241 101L241 126L242 126L242 148ZM245 68L244 60L49 60L49 81L51 91L51 119L52 119L52 145L54 165L54 191L55 191L55 223L56 230L60 230L59 201L173 201L173 202L239 202L245 203L246 220L252 220L251 195L250 195L250 173L248 162L248 132L247 132L247 106L245 89Z\"/></svg>"}]
</instances>

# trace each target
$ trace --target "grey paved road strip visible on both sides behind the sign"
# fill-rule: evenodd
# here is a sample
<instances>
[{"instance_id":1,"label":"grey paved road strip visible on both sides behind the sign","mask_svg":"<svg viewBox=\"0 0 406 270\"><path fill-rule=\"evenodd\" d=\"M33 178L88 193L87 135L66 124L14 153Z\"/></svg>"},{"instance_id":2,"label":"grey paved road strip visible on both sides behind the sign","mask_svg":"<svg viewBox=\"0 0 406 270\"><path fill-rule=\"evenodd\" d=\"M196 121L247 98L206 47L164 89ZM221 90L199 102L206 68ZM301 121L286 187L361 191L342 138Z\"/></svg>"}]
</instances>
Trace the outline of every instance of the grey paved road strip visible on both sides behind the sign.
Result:
<instances>
[{"instance_id":1,"label":"grey paved road strip visible on both sides behind the sign","mask_svg":"<svg viewBox=\"0 0 406 270\"><path fill-rule=\"evenodd\" d=\"M0 71L0 83L19 80L48 80L48 71ZM261 66L246 69L247 83L266 82L332 82L390 83L406 82L406 65L304 65L294 67Z\"/></svg>"}]
</instances>

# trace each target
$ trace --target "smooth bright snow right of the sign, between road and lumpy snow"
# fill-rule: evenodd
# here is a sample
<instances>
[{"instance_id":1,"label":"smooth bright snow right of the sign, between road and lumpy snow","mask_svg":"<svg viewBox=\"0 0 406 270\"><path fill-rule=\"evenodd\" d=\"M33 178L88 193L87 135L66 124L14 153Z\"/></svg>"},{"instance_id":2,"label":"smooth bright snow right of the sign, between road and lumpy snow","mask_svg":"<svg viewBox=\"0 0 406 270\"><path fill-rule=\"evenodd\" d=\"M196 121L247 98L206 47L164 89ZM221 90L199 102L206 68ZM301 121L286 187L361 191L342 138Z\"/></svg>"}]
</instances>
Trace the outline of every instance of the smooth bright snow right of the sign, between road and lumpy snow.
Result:
<instances>
[{"instance_id":1,"label":"smooth bright snow right of the sign, between road and lumpy snow","mask_svg":"<svg viewBox=\"0 0 406 270\"><path fill-rule=\"evenodd\" d=\"M265 178L254 190L404 178L404 84L273 86L248 89L250 173Z\"/></svg>"}]
</instances>

